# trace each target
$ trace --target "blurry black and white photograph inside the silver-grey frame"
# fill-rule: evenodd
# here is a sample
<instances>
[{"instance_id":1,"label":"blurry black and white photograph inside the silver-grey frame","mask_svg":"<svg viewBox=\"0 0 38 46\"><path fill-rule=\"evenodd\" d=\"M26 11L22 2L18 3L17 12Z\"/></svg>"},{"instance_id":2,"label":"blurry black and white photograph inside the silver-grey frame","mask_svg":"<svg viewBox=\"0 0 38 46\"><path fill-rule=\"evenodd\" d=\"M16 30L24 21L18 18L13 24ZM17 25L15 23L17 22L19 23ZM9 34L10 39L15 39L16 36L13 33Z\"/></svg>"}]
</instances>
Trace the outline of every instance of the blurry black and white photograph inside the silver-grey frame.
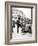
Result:
<instances>
[{"instance_id":1,"label":"blurry black and white photograph inside the silver-grey frame","mask_svg":"<svg viewBox=\"0 0 38 46\"><path fill-rule=\"evenodd\" d=\"M11 40L19 41L32 38L32 8L12 7Z\"/></svg>"}]
</instances>

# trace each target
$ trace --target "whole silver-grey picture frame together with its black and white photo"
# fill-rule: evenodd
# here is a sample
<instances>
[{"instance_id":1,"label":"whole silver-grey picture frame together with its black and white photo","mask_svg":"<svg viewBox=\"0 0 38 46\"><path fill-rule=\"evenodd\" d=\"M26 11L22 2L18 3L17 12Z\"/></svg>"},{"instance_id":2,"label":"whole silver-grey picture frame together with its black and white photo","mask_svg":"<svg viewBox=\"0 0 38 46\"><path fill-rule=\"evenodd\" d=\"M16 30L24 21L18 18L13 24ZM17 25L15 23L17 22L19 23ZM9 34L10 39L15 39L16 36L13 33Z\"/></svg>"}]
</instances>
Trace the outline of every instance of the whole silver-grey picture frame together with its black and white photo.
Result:
<instances>
[{"instance_id":1,"label":"whole silver-grey picture frame together with its black and white photo","mask_svg":"<svg viewBox=\"0 0 38 46\"><path fill-rule=\"evenodd\" d=\"M5 43L37 41L37 4L6 2Z\"/></svg>"}]
</instances>

